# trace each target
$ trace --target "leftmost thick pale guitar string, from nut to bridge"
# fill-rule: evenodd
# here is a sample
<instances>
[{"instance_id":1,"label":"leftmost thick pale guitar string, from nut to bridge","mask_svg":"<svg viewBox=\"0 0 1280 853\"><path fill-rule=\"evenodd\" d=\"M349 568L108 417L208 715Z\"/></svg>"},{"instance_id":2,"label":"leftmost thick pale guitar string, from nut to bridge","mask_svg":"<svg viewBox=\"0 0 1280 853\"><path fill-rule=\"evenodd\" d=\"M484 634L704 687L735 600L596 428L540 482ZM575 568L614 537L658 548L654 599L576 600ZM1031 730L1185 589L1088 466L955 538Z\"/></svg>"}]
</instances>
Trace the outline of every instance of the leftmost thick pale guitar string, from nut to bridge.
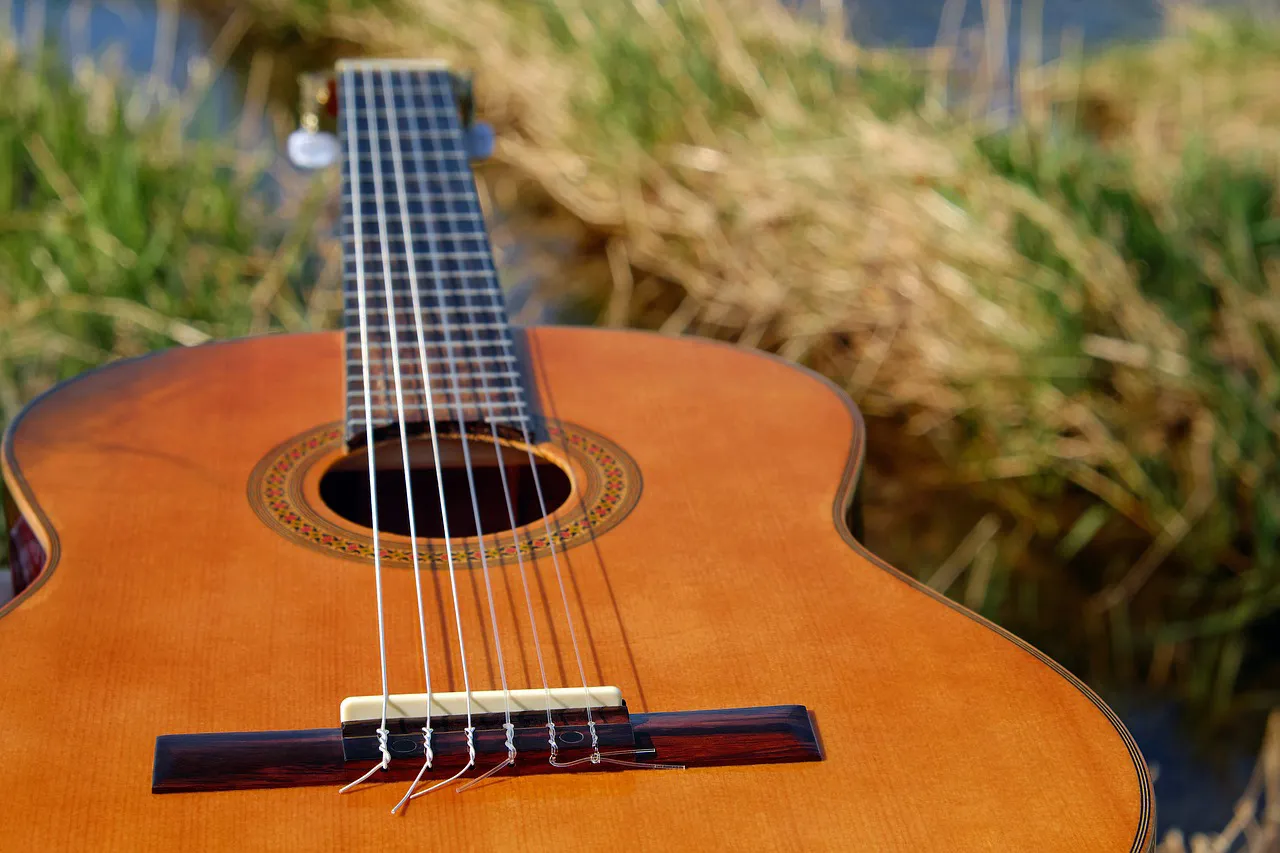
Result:
<instances>
[{"instance_id":1,"label":"leftmost thick pale guitar string, from nut to bridge","mask_svg":"<svg viewBox=\"0 0 1280 853\"><path fill-rule=\"evenodd\" d=\"M387 629L383 619L383 558L381 558L381 543L378 535L378 474L376 465L374 460L374 418L372 418L372 394L370 392L369 382L369 310L365 293L365 246L364 246L364 229L361 227L362 213L358 210L361 202L360 192L360 156L357 146L357 128L356 128L356 108L355 108L355 76L352 72L347 72L343 76L343 88L346 90L347 101L347 161L348 161L348 181L351 182L351 207L352 219L355 220L355 248L356 248L356 296L360 302L360 368L361 375L364 377L364 392L365 392L365 452L369 457L369 506L374 528L374 588L378 597L378 654L381 663L383 672L383 716L381 724L378 726L378 749L383 753L381 762L374 765L369 768L364 776L353 783L349 783L339 789L338 793L344 794L352 790L370 776L372 776L379 770L387 770L392 761L390 749L387 747L387 738L389 731L387 729L387 703L388 703L388 688L387 688Z\"/></svg>"}]
</instances>

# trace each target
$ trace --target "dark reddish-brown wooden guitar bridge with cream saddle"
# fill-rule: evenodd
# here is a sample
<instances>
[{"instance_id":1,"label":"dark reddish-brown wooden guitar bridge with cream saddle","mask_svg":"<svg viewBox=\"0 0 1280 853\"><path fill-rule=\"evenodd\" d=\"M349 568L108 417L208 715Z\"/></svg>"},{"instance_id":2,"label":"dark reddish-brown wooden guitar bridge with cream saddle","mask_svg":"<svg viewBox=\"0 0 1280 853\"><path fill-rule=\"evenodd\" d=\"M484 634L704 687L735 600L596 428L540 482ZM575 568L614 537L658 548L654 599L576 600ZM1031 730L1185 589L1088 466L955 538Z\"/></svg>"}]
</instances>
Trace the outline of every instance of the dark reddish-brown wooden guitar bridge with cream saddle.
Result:
<instances>
[{"instance_id":1,"label":"dark reddish-brown wooden guitar bridge with cream saddle","mask_svg":"<svg viewBox=\"0 0 1280 853\"><path fill-rule=\"evenodd\" d=\"M477 775L507 757L504 695L500 690L471 694ZM625 765L591 761L588 707L599 752L621 753L626 763L722 767L822 760L813 716L803 704L630 713L617 688L604 686L550 690L549 702L545 690L511 690L509 702L517 757L503 774L626 770ZM463 693L431 697L434 761L424 780L448 779L466 766L466 704ZM548 710L556 731L554 756ZM425 694L390 697L387 745L393 760L370 781L408 781L417 775L425 754L426 719ZM151 790L169 794L342 785L380 762L380 725L378 695L343 701L335 729L161 735L156 739Z\"/></svg>"}]
</instances>

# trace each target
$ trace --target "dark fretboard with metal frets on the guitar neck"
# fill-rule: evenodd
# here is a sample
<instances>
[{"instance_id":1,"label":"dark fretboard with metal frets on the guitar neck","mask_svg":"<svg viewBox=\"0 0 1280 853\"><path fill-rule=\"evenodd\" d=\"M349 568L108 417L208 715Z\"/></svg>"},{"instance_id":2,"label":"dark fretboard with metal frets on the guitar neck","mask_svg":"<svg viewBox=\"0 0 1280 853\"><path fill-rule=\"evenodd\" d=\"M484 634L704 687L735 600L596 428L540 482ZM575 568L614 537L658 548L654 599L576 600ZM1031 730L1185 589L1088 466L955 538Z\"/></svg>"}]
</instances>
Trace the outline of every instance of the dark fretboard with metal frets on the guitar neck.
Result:
<instances>
[{"instance_id":1,"label":"dark fretboard with metal frets on the guitar neck","mask_svg":"<svg viewBox=\"0 0 1280 853\"><path fill-rule=\"evenodd\" d=\"M529 424L449 72L338 65L347 441L366 424ZM396 393L396 368L401 394ZM367 389L366 389L367 378Z\"/></svg>"}]
</instances>

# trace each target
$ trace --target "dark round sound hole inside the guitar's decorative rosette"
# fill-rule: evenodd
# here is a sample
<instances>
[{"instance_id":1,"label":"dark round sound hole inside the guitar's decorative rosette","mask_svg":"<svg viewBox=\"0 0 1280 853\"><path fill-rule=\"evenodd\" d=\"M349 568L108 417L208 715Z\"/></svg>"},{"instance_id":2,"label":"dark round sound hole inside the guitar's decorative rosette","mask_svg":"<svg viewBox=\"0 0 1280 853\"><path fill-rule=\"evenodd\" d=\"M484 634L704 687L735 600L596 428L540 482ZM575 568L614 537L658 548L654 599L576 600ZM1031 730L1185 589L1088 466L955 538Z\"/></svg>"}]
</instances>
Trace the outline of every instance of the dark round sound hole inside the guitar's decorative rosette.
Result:
<instances>
[{"instance_id":1,"label":"dark round sound hole inside the guitar's decorative rosette","mask_svg":"<svg viewBox=\"0 0 1280 853\"><path fill-rule=\"evenodd\" d=\"M502 488L502 473L498 470L498 453L494 446L490 442L471 441L467 448L471 452L481 532L488 535L509 530L511 515L507 511L507 497ZM378 443L374 460L379 530L408 535L410 510L404 500L404 467L399 441ZM557 464L538 453L534 453L534 460L547 510L554 512L568 500L571 491L568 475ZM449 535L474 537L476 514L472 510L461 439L440 439L440 465ZM507 475L516 526L541 519L538 489L534 485L534 469L529 465L529 453L525 448L503 446L502 466ZM419 538L443 538L440 489L430 439L410 439L410 484L413 489L413 523ZM374 526L369 502L369 456L364 448L343 456L324 473L320 478L320 498L343 519L366 528Z\"/></svg>"}]
</instances>

